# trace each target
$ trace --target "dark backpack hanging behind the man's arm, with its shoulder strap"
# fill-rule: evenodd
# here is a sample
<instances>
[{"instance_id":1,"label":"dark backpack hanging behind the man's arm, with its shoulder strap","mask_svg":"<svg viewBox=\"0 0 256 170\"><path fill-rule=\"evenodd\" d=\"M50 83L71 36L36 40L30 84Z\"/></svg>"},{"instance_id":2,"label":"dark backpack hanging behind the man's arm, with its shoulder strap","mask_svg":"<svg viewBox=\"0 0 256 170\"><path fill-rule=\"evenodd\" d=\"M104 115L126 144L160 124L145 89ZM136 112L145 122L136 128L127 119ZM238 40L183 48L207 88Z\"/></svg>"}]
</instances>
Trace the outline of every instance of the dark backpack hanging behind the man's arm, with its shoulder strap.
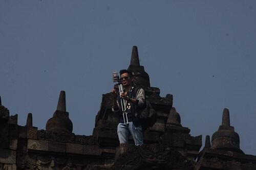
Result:
<instances>
[{"instance_id":1,"label":"dark backpack hanging behind the man's arm, with its shoulder strap","mask_svg":"<svg viewBox=\"0 0 256 170\"><path fill-rule=\"evenodd\" d=\"M140 88L141 87L138 87L138 86L135 87L135 89L134 89L135 95L133 94L134 96L136 96L137 91ZM148 127L152 127L156 123L156 120L157 120L156 112L148 100L145 99L144 106L137 107L136 112L138 113L138 115L136 115L136 117L138 116L139 122L140 122L143 130L147 129Z\"/></svg>"}]
</instances>

